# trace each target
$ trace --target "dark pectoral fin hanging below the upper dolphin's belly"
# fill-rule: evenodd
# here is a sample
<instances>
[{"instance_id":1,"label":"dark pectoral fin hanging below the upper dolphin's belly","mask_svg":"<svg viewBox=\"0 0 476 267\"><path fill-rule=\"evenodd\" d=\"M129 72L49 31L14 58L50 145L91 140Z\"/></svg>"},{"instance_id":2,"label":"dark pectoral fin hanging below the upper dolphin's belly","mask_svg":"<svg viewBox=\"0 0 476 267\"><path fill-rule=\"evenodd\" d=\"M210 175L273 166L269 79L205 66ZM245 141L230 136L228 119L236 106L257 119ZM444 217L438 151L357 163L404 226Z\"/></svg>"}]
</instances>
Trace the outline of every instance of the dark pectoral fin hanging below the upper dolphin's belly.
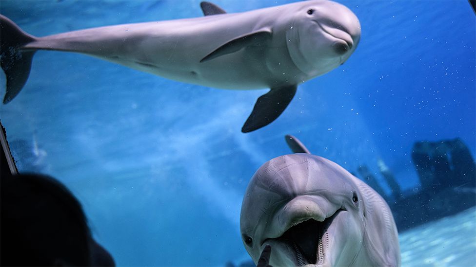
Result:
<instances>
[{"instance_id":1,"label":"dark pectoral fin hanging below the upper dolphin's belly","mask_svg":"<svg viewBox=\"0 0 476 267\"><path fill-rule=\"evenodd\" d=\"M276 120L289 105L296 94L297 85L272 88L256 101L251 115L241 128L241 132L248 133L266 126Z\"/></svg>"}]
</instances>

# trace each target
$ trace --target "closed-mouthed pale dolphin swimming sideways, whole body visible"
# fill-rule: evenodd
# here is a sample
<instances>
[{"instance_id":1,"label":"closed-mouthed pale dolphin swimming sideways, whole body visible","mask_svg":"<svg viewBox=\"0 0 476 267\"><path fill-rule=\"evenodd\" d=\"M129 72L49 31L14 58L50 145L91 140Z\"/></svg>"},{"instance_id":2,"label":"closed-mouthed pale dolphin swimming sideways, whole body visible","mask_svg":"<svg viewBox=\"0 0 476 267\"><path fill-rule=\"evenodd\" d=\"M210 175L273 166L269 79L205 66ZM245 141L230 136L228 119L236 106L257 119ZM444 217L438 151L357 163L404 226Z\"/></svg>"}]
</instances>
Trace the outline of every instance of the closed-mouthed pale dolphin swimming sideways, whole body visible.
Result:
<instances>
[{"instance_id":1,"label":"closed-mouthed pale dolphin swimming sideways, whole body visible","mask_svg":"<svg viewBox=\"0 0 476 267\"><path fill-rule=\"evenodd\" d=\"M3 103L22 89L37 50L91 55L172 80L220 89L271 90L258 98L242 127L274 121L298 84L331 71L354 52L360 24L347 7L327 0L227 14L202 4L205 16L123 24L35 37L1 16Z\"/></svg>"}]
</instances>

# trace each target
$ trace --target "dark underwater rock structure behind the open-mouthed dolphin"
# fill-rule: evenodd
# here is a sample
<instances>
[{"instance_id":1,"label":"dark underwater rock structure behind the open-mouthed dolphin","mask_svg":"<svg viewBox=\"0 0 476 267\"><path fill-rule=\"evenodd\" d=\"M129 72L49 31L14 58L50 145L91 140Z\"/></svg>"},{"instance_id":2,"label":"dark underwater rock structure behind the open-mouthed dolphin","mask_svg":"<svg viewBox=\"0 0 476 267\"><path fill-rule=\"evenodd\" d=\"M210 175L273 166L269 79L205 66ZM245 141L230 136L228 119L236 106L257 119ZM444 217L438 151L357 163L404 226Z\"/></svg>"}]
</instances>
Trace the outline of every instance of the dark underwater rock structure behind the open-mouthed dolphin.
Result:
<instances>
[{"instance_id":1,"label":"dark underwater rock structure behind the open-mouthed dolphin","mask_svg":"<svg viewBox=\"0 0 476 267\"><path fill-rule=\"evenodd\" d=\"M366 166L357 177L385 198L394 214L398 231L460 213L476 206L476 164L469 148L456 138L416 142L412 161L420 180L417 191L402 192L389 168L379 161L380 175L391 189L386 194Z\"/></svg>"}]
</instances>

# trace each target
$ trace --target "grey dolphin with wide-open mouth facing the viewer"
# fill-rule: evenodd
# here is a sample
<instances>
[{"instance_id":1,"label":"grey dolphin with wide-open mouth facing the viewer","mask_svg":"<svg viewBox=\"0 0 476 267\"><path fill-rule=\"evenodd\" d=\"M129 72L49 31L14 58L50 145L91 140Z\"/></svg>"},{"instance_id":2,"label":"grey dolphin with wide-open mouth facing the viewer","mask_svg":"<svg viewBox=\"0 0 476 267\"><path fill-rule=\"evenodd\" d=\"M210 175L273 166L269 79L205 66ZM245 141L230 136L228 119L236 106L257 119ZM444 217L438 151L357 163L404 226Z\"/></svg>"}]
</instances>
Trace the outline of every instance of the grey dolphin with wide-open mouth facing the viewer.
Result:
<instances>
[{"instance_id":1,"label":"grey dolphin with wide-open mouth facing the viewer","mask_svg":"<svg viewBox=\"0 0 476 267\"><path fill-rule=\"evenodd\" d=\"M286 140L297 141L293 150L307 150L294 137ZM383 198L341 166L308 153L258 169L243 198L240 230L255 263L400 266L397 227Z\"/></svg>"}]
</instances>

